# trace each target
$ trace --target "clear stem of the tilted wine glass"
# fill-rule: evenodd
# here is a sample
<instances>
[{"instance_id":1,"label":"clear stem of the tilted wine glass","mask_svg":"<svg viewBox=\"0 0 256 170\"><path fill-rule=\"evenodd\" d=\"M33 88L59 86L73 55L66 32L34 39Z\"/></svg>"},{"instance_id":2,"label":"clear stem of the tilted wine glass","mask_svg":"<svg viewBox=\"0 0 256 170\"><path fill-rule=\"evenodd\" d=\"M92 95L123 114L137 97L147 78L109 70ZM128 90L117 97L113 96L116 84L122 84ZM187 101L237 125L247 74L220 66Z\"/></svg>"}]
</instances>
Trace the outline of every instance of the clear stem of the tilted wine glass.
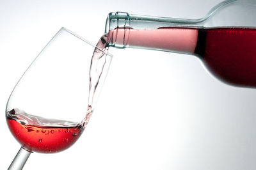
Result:
<instances>
[{"instance_id":1,"label":"clear stem of the tilted wine glass","mask_svg":"<svg viewBox=\"0 0 256 170\"><path fill-rule=\"evenodd\" d=\"M12 161L12 164L10 164L8 170L20 170L24 167L26 164L28 157L30 155L30 151L25 150L24 148L20 148L17 155Z\"/></svg>"}]
</instances>

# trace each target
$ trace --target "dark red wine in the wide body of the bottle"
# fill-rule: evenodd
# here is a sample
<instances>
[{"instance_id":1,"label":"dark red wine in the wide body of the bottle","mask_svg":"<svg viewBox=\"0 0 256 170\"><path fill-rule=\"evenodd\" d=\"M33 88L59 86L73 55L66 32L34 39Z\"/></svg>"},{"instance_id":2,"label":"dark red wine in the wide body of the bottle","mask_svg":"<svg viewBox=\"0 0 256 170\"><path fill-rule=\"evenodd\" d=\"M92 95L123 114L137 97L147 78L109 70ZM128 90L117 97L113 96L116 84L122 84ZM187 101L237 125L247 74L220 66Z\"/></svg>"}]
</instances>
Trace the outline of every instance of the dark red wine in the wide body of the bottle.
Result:
<instances>
[{"instance_id":1,"label":"dark red wine in the wide body of the bottle","mask_svg":"<svg viewBox=\"0 0 256 170\"><path fill-rule=\"evenodd\" d=\"M199 29L195 54L222 81L256 87L256 29Z\"/></svg>"}]
</instances>

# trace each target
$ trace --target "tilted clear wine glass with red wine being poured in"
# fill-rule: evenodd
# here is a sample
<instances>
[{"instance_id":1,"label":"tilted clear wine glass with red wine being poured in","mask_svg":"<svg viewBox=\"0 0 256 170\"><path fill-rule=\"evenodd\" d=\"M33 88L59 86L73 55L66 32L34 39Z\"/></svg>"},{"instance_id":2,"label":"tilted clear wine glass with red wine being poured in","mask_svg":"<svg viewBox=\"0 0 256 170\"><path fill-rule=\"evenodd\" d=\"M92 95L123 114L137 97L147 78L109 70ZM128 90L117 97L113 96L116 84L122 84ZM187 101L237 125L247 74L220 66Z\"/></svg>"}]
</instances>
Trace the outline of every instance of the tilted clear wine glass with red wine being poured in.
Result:
<instances>
[{"instance_id":1,"label":"tilted clear wine glass with red wine being poured in","mask_svg":"<svg viewBox=\"0 0 256 170\"><path fill-rule=\"evenodd\" d=\"M101 54L104 65L88 104L93 51ZM6 121L22 145L9 169L22 169L31 152L56 153L77 141L90 120L111 58L107 50L65 27L56 33L8 99Z\"/></svg>"}]
</instances>

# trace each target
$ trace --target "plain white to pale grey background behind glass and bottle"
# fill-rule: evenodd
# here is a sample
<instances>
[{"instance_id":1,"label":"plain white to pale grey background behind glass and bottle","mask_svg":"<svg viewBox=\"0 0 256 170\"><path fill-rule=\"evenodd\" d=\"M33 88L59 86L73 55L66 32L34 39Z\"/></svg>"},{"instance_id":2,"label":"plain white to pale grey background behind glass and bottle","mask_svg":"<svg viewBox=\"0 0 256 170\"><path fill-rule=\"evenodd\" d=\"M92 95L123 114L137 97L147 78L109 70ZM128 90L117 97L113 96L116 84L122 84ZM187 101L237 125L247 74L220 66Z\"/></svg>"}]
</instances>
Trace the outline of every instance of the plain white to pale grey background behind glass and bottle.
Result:
<instances>
[{"instance_id":1,"label":"plain white to pale grey background behind glass and bottle","mask_svg":"<svg viewBox=\"0 0 256 170\"><path fill-rule=\"evenodd\" d=\"M109 12L203 17L220 0L0 1L0 169L20 148L4 109L19 77L65 26L96 43ZM24 169L255 169L255 89L205 72L194 56L110 49L97 108L74 146L32 153Z\"/></svg>"}]
</instances>

